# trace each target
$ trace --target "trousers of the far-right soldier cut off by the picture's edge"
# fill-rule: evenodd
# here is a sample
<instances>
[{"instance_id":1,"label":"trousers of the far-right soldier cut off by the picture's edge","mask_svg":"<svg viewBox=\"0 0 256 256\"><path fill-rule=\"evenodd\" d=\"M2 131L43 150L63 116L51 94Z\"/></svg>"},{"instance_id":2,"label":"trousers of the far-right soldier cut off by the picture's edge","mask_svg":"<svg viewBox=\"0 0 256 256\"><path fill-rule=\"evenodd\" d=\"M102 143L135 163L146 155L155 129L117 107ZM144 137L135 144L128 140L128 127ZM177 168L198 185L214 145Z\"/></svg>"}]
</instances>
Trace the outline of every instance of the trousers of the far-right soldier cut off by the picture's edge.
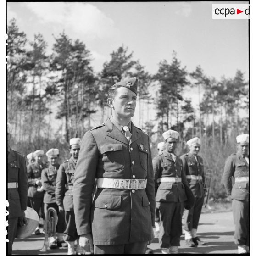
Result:
<instances>
[{"instance_id":1,"label":"trousers of the far-right soldier cut off by the picture's edge","mask_svg":"<svg viewBox=\"0 0 256 256\"><path fill-rule=\"evenodd\" d=\"M250 245L249 201L232 200L236 245Z\"/></svg>"}]
</instances>

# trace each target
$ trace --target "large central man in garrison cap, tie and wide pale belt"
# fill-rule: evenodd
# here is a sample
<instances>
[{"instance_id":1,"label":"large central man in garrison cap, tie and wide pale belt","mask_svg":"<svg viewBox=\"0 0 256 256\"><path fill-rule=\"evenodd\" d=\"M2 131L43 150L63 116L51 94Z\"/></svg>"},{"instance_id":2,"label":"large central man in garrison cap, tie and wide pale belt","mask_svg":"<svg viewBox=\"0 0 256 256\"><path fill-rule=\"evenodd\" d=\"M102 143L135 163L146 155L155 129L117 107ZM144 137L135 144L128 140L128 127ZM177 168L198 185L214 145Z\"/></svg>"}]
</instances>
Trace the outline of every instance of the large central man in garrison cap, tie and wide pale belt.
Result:
<instances>
[{"instance_id":1,"label":"large central man in garrison cap, tie and wide pale belt","mask_svg":"<svg viewBox=\"0 0 256 256\"><path fill-rule=\"evenodd\" d=\"M107 103L112 116L87 132L81 144L73 188L75 220L80 245L95 254L144 254L154 238L150 140L131 122L137 82L131 78L111 86Z\"/></svg>"}]
</instances>

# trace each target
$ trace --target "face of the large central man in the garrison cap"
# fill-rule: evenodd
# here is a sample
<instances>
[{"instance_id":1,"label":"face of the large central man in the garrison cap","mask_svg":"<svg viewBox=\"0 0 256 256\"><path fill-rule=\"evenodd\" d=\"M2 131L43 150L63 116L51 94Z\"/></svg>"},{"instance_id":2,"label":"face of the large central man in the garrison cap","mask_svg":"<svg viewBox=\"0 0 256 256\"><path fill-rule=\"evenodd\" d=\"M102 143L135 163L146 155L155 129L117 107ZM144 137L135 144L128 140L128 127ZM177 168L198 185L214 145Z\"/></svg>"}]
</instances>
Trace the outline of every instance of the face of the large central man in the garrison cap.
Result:
<instances>
[{"instance_id":1,"label":"face of the large central man in the garrison cap","mask_svg":"<svg viewBox=\"0 0 256 256\"><path fill-rule=\"evenodd\" d=\"M136 99L137 96L134 92L125 87L119 87L116 90L115 98L112 99L112 104L109 105L118 117L133 117Z\"/></svg>"}]
</instances>

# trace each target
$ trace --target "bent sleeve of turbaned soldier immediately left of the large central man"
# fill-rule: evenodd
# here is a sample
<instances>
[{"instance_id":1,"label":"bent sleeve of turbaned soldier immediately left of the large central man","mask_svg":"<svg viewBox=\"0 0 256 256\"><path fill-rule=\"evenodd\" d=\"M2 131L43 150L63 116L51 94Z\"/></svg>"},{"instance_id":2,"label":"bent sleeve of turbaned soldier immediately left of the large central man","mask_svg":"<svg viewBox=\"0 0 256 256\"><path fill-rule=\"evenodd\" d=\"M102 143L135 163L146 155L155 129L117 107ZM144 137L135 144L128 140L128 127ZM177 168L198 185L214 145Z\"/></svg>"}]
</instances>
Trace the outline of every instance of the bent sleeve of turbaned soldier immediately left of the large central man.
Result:
<instances>
[{"instance_id":1,"label":"bent sleeve of turbaned soldier immediately left of the large central man","mask_svg":"<svg viewBox=\"0 0 256 256\"><path fill-rule=\"evenodd\" d=\"M64 165L61 164L56 177L56 189L55 189L55 198L56 204L58 206L63 206L63 198L65 194L65 184L66 184L66 173Z\"/></svg>"}]
</instances>

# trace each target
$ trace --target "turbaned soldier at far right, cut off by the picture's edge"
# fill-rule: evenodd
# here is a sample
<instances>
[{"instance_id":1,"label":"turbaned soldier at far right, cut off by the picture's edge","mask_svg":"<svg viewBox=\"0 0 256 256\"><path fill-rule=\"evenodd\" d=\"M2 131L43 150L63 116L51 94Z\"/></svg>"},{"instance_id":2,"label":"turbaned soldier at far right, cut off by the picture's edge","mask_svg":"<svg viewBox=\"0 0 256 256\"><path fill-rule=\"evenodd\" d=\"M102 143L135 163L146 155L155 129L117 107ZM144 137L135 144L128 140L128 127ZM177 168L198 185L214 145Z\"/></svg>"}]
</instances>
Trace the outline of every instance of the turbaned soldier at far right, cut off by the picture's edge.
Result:
<instances>
[{"instance_id":1,"label":"turbaned soldier at far right, cut off by the picture's edge","mask_svg":"<svg viewBox=\"0 0 256 256\"><path fill-rule=\"evenodd\" d=\"M236 137L237 153L226 160L223 172L223 184L232 198L235 224L234 240L238 245L238 253L249 253L249 134ZM232 185L234 177L234 185Z\"/></svg>"}]
</instances>

